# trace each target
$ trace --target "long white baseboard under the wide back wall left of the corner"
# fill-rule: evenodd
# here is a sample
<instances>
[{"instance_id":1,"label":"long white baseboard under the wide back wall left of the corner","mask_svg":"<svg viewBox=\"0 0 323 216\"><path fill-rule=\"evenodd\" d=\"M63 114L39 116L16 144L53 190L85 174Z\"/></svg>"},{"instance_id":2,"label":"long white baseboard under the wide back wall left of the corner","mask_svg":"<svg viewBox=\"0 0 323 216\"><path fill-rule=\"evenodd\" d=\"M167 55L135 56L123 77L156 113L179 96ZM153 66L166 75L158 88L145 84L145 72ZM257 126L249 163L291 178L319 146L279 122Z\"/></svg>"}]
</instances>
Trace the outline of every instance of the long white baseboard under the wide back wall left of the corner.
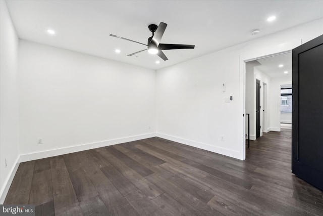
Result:
<instances>
[{"instance_id":1,"label":"long white baseboard under the wide back wall left of the corner","mask_svg":"<svg viewBox=\"0 0 323 216\"><path fill-rule=\"evenodd\" d=\"M82 144L82 145L77 145L77 146L70 146L70 147L60 148L60 149L51 149L48 151L34 152L34 153L30 153L30 154L23 154L23 155L20 155L19 162L37 160L37 159L41 159L41 158L53 157L53 156L58 156L58 155L62 155L62 154L69 154L69 153L73 153L73 152L95 149L95 148L100 148L100 147L104 147L104 146L111 146L111 145L116 145L116 144L120 144L120 143L126 143L126 142L131 142L131 141L136 141L136 140L147 139L147 138L151 138L151 137L155 137L155 136L156 136L155 133L150 133L150 134L143 134L143 135L137 135L137 136L132 136L132 137L118 138L118 139L113 139L113 140L105 140L105 141L96 142L96 143L87 143L87 144Z\"/></svg>"}]
</instances>

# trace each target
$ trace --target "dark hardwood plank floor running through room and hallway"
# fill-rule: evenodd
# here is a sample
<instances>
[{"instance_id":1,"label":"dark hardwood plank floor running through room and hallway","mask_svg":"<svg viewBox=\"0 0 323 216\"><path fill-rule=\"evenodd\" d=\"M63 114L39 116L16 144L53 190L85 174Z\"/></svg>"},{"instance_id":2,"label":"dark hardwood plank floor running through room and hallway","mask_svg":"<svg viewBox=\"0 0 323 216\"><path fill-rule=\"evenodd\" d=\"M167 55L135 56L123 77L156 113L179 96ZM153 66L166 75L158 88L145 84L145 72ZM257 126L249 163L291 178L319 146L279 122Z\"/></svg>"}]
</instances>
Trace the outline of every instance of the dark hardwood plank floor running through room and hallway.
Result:
<instances>
[{"instance_id":1,"label":"dark hardwood plank floor running through room and hallway","mask_svg":"<svg viewBox=\"0 0 323 216\"><path fill-rule=\"evenodd\" d=\"M291 130L245 161L160 138L19 165L5 204L36 215L323 215L323 192L291 173Z\"/></svg>"}]
</instances>

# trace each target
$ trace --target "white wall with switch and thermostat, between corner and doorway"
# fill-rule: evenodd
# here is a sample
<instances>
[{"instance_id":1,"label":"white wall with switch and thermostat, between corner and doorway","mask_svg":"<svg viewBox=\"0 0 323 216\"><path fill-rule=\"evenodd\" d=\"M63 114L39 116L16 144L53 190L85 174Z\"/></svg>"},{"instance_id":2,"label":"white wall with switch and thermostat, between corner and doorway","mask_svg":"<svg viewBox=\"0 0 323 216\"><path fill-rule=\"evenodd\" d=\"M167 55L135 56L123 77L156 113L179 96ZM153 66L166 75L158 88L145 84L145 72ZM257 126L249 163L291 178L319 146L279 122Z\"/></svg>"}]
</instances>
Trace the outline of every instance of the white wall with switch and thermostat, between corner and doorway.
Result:
<instances>
[{"instance_id":1,"label":"white wall with switch and thermostat, between corner and doorway","mask_svg":"<svg viewBox=\"0 0 323 216\"><path fill-rule=\"evenodd\" d=\"M158 70L157 136L238 157L238 60L222 51Z\"/></svg>"}]
</instances>

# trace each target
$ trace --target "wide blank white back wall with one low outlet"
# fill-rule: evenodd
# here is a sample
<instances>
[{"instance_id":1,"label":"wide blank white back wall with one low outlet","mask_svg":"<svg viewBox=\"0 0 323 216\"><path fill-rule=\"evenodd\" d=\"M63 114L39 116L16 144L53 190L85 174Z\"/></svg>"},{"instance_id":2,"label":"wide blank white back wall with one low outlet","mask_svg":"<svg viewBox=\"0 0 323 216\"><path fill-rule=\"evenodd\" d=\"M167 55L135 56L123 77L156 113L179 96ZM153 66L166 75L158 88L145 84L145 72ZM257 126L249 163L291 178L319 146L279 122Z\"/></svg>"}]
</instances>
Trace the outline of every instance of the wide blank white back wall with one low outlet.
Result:
<instances>
[{"instance_id":1,"label":"wide blank white back wall with one low outlet","mask_svg":"<svg viewBox=\"0 0 323 216\"><path fill-rule=\"evenodd\" d=\"M19 58L22 161L155 136L154 70L26 40Z\"/></svg>"}]
</instances>

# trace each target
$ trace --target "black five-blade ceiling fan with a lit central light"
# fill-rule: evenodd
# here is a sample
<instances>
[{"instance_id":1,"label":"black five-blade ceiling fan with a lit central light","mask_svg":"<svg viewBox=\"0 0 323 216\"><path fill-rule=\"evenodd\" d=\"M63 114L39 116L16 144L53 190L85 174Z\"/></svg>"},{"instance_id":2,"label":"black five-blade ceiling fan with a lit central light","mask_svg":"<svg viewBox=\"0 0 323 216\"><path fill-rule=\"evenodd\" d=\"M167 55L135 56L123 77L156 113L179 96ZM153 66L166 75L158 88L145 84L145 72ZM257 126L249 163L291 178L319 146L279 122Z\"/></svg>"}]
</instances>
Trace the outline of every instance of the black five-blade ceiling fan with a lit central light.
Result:
<instances>
[{"instance_id":1,"label":"black five-blade ceiling fan with a lit central light","mask_svg":"<svg viewBox=\"0 0 323 216\"><path fill-rule=\"evenodd\" d=\"M142 44L142 45L147 46L147 49L129 54L128 56L133 56L137 53L148 50L148 53L157 54L157 56L159 56L164 61L166 61L166 60L168 60L168 58L166 57L166 55L163 53L162 50L194 49L195 45L160 44L161 37L163 37L166 27L167 27L167 24L163 23L163 22L160 22L158 26L155 24L148 25L149 31L152 32L152 36L148 38L147 44L143 44L141 42L137 42L137 41L134 41L131 39L120 37L120 36L117 36L114 34L110 34L110 36L118 37L121 39L129 40L129 41L136 42L138 44Z\"/></svg>"}]
</instances>

